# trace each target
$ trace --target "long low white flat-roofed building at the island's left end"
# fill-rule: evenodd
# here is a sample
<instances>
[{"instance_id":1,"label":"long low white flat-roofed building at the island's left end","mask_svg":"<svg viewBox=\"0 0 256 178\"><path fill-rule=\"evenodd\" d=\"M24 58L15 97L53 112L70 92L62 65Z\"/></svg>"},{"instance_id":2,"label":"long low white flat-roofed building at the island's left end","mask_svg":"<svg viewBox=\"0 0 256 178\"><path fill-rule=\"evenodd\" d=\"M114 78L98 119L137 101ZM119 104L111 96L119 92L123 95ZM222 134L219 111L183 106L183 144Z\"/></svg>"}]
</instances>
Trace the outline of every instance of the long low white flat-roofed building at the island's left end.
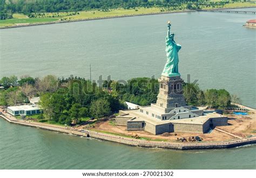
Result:
<instances>
[{"instance_id":1,"label":"long low white flat-roofed building at the island's left end","mask_svg":"<svg viewBox=\"0 0 256 178\"><path fill-rule=\"evenodd\" d=\"M18 115L36 115L41 113L41 109L37 105L20 105L20 106L9 106L7 112L12 116Z\"/></svg>"}]
</instances>

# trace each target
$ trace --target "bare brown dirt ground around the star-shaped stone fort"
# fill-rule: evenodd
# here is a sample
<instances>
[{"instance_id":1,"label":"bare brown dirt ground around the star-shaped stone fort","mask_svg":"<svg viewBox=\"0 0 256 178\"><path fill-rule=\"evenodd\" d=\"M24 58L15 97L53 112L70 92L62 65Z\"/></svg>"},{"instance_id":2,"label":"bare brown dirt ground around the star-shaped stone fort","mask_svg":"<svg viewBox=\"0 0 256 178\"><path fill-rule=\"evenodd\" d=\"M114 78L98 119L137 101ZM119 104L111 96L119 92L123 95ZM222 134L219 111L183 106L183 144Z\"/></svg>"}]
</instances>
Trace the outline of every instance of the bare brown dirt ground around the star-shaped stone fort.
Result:
<instances>
[{"instance_id":1,"label":"bare brown dirt ground around the star-shaped stone fort","mask_svg":"<svg viewBox=\"0 0 256 178\"><path fill-rule=\"evenodd\" d=\"M219 129L235 134L240 137L251 136L253 130L256 130L256 114L250 113L248 116L235 116L235 115L227 115L228 116L228 126L218 126ZM93 130L98 131L106 131L111 133L125 134L126 136L132 136L132 134L137 133L139 137L146 137L150 139L164 139L167 141L176 141L177 138L192 136L199 136L203 138L203 141L224 141L224 140L232 140L235 137L230 136L227 133L219 132L217 130L213 130L211 133L164 133L160 135L153 135L146 131L126 131L126 126L115 126L110 123L110 120L99 121L95 123L95 127L91 128ZM177 136L175 136L177 134Z\"/></svg>"}]
</instances>

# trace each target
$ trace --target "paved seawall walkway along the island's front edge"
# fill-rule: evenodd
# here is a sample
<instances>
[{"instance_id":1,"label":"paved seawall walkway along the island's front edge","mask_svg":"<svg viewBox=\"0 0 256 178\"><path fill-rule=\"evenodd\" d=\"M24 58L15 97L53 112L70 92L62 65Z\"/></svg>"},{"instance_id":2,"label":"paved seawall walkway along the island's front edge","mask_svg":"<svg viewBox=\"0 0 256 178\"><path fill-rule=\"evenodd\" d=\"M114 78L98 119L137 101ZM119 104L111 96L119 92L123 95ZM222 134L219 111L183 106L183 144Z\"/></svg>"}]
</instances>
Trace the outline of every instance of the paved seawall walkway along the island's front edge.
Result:
<instances>
[{"instance_id":1,"label":"paved seawall walkway along the island's front edge","mask_svg":"<svg viewBox=\"0 0 256 178\"><path fill-rule=\"evenodd\" d=\"M1 118L5 119L9 123L37 127L40 129L57 131L62 133L74 134L76 136L91 137L100 140L112 141L115 143L130 145L130 146L139 146L147 148L165 148L165 149L179 149L179 150L191 150L191 149L220 149L220 148L233 148L238 146L256 144L256 136L235 139L229 141L214 141L208 143L175 143L175 142L162 142L162 141L149 141L149 140L138 140L133 138L115 136L111 134L83 130L83 132L64 127L57 126L46 123L36 123L36 122L26 122L26 120L17 120L14 117L8 118L8 116L0 115Z\"/></svg>"}]
</instances>

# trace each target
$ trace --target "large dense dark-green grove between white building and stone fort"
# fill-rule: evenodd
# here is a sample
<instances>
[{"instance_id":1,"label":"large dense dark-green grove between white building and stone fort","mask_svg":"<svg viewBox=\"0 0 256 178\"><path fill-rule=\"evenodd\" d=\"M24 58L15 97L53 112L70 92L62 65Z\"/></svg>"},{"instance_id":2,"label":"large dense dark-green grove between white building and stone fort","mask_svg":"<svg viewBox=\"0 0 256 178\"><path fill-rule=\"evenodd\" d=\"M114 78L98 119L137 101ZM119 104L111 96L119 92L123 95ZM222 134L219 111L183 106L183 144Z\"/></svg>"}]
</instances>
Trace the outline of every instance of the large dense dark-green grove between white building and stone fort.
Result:
<instances>
[{"instance_id":1,"label":"large dense dark-green grove between white building and stone fort","mask_svg":"<svg viewBox=\"0 0 256 178\"><path fill-rule=\"evenodd\" d=\"M86 117L101 118L124 109L117 96L96 83L82 78L58 79L53 92L41 95L41 106L47 118L62 124L79 123Z\"/></svg>"}]
</instances>

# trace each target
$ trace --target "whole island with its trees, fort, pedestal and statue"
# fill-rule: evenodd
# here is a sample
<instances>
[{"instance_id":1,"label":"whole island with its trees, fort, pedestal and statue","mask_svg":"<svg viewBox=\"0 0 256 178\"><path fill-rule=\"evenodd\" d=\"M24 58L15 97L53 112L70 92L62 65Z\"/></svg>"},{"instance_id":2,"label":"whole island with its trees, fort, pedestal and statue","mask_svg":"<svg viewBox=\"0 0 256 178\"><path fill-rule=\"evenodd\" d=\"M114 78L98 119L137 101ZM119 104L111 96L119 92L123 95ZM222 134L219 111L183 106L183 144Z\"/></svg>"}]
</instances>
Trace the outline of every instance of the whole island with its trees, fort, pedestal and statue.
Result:
<instances>
[{"instance_id":1,"label":"whole island with its trees, fort, pedestal and statue","mask_svg":"<svg viewBox=\"0 0 256 178\"><path fill-rule=\"evenodd\" d=\"M0 117L131 146L214 149L256 143L255 109L241 105L225 89L203 91L181 79L181 45L170 22L165 44L166 64L158 80L142 77L97 85L73 76L3 77Z\"/></svg>"}]
</instances>

